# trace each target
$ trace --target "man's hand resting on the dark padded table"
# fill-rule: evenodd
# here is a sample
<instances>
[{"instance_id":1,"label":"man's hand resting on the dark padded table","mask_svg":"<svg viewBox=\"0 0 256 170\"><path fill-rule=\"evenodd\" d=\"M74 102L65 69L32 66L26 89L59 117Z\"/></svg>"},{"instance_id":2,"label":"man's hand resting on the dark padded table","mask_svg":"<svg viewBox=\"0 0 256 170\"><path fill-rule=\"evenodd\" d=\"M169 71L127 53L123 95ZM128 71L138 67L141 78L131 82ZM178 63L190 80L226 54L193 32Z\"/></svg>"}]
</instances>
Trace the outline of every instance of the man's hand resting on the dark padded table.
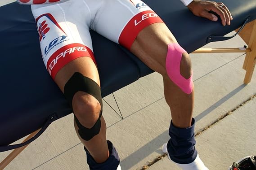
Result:
<instances>
[{"instance_id":1,"label":"man's hand resting on the dark padded table","mask_svg":"<svg viewBox=\"0 0 256 170\"><path fill-rule=\"evenodd\" d=\"M233 20L229 9L221 2L212 2L208 0L193 0L188 6L189 10L198 17L206 17L211 21L217 21L216 15L209 13L210 11L217 13L222 25L230 25L230 20Z\"/></svg>"}]
</instances>

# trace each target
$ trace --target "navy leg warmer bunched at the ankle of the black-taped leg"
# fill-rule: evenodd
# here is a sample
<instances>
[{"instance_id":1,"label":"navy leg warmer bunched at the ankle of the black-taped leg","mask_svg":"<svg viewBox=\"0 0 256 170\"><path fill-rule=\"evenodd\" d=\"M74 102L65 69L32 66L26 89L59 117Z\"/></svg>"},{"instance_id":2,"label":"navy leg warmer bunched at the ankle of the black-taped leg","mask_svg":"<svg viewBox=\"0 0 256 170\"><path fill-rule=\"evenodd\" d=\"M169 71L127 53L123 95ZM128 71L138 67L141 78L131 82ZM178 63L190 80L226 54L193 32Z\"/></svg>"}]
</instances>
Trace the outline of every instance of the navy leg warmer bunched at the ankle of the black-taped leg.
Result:
<instances>
[{"instance_id":1,"label":"navy leg warmer bunched at the ankle of the black-taped leg","mask_svg":"<svg viewBox=\"0 0 256 170\"><path fill-rule=\"evenodd\" d=\"M120 166L120 159L117 153L116 148L113 144L107 140L108 143L108 150L109 150L109 157L103 163L97 163L94 161L94 158L90 155L88 150L85 148L86 157L87 157L87 164L90 167L90 170L121 170Z\"/></svg>"}]
</instances>

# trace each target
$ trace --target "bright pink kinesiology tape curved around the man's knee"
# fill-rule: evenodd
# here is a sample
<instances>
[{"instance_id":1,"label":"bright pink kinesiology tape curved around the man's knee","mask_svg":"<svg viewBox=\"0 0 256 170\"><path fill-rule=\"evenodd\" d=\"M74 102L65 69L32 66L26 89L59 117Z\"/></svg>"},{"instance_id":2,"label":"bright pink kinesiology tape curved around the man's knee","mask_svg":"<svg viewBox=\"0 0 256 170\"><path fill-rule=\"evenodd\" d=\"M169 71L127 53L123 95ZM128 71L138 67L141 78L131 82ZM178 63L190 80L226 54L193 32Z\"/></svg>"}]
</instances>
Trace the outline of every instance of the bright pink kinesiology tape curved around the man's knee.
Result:
<instances>
[{"instance_id":1,"label":"bright pink kinesiology tape curved around the man's knee","mask_svg":"<svg viewBox=\"0 0 256 170\"><path fill-rule=\"evenodd\" d=\"M184 52L186 51L178 43L168 44L166 71L173 83L180 87L183 92L190 94L193 91L193 73L189 79L180 74L180 61Z\"/></svg>"}]
</instances>

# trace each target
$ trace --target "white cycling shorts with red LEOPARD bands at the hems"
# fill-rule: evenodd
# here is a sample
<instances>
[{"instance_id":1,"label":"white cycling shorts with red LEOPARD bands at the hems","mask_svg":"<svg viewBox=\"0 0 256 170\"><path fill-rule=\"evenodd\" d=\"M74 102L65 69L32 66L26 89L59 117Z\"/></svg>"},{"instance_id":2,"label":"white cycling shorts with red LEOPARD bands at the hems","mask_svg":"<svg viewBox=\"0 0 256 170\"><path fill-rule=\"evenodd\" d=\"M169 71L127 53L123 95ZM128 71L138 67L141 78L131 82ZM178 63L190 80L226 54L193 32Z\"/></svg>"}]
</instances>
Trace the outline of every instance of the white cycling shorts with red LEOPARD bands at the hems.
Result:
<instances>
[{"instance_id":1,"label":"white cycling shorts with red LEOPARD bands at the hems","mask_svg":"<svg viewBox=\"0 0 256 170\"><path fill-rule=\"evenodd\" d=\"M139 32L162 19L141 0L67 0L31 5L52 78L70 61L93 55L89 30L130 49Z\"/></svg>"}]
</instances>

